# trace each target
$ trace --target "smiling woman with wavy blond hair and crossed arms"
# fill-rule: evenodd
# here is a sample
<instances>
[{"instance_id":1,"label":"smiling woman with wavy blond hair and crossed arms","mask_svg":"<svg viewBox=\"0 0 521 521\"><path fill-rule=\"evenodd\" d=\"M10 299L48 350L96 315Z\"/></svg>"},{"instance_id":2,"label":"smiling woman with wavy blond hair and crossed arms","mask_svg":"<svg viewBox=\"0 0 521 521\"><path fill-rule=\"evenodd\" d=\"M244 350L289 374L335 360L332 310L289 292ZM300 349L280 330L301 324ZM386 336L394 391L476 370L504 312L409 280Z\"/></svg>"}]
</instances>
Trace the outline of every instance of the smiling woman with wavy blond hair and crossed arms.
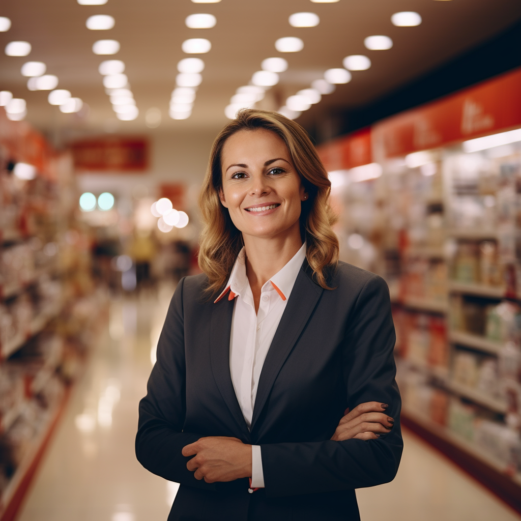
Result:
<instances>
[{"instance_id":1,"label":"smiling woman with wavy blond hair and crossed arms","mask_svg":"<svg viewBox=\"0 0 521 521\"><path fill-rule=\"evenodd\" d=\"M138 460L181 483L169 520L359 519L354 489L398 470L389 291L338 262L329 192L277 113L213 145L204 274L179 282L140 403Z\"/></svg>"}]
</instances>

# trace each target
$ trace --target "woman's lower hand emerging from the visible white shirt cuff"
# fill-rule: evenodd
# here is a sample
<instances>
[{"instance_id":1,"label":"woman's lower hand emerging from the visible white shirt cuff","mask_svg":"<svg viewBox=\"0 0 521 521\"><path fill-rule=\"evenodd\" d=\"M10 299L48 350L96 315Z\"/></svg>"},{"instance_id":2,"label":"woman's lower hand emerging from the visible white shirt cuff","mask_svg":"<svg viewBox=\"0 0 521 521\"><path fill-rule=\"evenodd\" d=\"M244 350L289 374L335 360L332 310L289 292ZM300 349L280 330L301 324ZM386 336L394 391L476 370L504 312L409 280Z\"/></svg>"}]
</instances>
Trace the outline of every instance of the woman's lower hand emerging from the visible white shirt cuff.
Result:
<instances>
[{"instance_id":1,"label":"woman's lower hand emerging from the visible white shirt cuff","mask_svg":"<svg viewBox=\"0 0 521 521\"><path fill-rule=\"evenodd\" d=\"M237 438L209 436L200 438L181 451L183 456L193 456L187 468L195 479L207 483L233 481L252 475L252 446Z\"/></svg>"}]
</instances>

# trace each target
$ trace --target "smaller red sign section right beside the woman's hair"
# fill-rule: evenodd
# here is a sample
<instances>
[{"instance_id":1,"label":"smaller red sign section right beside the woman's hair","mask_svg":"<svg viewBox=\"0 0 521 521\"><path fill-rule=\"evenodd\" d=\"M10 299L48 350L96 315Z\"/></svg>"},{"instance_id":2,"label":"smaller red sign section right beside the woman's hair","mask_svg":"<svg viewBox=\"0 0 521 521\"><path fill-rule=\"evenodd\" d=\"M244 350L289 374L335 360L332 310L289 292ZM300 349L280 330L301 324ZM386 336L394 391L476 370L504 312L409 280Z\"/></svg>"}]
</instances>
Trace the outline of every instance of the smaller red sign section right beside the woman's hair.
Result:
<instances>
[{"instance_id":1,"label":"smaller red sign section right beside the woman's hair","mask_svg":"<svg viewBox=\"0 0 521 521\"><path fill-rule=\"evenodd\" d=\"M369 128L317 147L326 170L343 170L373 162L371 131Z\"/></svg>"}]
</instances>

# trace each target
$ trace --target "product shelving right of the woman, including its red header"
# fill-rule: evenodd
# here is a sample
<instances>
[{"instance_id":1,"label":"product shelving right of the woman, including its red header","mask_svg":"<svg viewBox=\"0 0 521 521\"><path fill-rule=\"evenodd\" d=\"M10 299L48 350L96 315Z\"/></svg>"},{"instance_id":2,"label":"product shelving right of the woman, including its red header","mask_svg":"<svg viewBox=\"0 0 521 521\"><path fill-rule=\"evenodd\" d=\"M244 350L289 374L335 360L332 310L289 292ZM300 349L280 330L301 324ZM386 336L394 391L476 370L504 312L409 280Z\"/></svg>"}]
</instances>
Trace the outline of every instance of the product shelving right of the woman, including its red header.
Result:
<instances>
[{"instance_id":1,"label":"product shelving right of the woman, including its red header","mask_svg":"<svg viewBox=\"0 0 521 521\"><path fill-rule=\"evenodd\" d=\"M521 128L519 89L521 69L319 153L341 259L389 285L404 416L491 487L487 465L504 475L521 513L521 141L472 141Z\"/></svg>"}]
</instances>

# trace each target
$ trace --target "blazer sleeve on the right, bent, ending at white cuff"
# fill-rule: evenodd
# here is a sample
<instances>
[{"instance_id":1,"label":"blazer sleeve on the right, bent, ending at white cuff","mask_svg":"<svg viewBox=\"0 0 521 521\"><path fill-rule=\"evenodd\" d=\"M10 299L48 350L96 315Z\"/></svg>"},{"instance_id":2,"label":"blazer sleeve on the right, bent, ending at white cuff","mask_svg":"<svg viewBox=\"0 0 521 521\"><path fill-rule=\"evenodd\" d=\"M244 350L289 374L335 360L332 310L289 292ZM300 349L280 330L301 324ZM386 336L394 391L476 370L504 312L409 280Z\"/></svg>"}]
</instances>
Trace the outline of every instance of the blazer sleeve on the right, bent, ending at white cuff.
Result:
<instances>
[{"instance_id":1,"label":"blazer sleeve on the right, bent, ending at white cuff","mask_svg":"<svg viewBox=\"0 0 521 521\"><path fill-rule=\"evenodd\" d=\"M391 481L398 471L403 442L394 379L396 337L389 290L381 277L365 283L350 315L342 346L349 407L387 403L394 427L377 440L261 445L268 497L372 487Z\"/></svg>"}]
</instances>

